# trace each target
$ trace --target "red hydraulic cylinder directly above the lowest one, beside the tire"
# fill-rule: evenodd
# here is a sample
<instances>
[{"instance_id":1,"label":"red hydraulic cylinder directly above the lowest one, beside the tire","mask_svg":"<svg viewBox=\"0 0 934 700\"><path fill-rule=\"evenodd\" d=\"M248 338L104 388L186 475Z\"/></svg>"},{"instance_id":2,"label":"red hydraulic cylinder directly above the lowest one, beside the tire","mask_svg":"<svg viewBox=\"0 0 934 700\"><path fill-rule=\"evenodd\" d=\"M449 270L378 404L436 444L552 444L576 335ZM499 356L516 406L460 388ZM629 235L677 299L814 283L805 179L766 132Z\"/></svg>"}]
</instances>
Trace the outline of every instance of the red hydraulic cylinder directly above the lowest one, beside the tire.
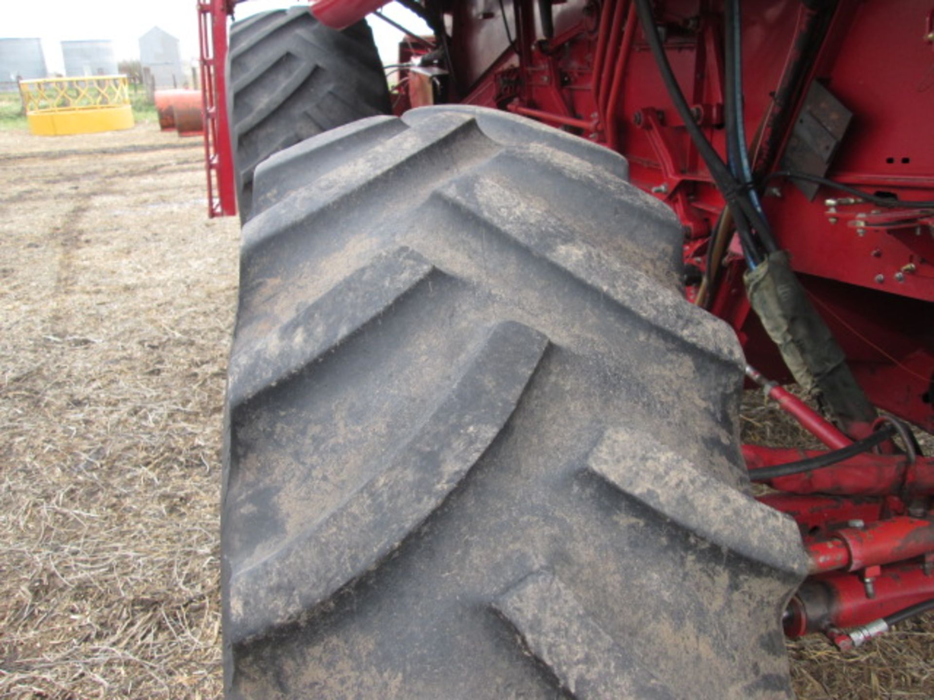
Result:
<instances>
[{"instance_id":1,"label":"red hydraulic cylinder directly above the lowest one, beside the tire","mask_svg":"<svg viewBox=\"0 0 934 700\"><path fill-rule=\"evenodd\" d=\"M806 545L811 573L891 564L934 552L934 523L901 516L862 527L835 530L830 539Z\"/></svg>"}]
</instances>

